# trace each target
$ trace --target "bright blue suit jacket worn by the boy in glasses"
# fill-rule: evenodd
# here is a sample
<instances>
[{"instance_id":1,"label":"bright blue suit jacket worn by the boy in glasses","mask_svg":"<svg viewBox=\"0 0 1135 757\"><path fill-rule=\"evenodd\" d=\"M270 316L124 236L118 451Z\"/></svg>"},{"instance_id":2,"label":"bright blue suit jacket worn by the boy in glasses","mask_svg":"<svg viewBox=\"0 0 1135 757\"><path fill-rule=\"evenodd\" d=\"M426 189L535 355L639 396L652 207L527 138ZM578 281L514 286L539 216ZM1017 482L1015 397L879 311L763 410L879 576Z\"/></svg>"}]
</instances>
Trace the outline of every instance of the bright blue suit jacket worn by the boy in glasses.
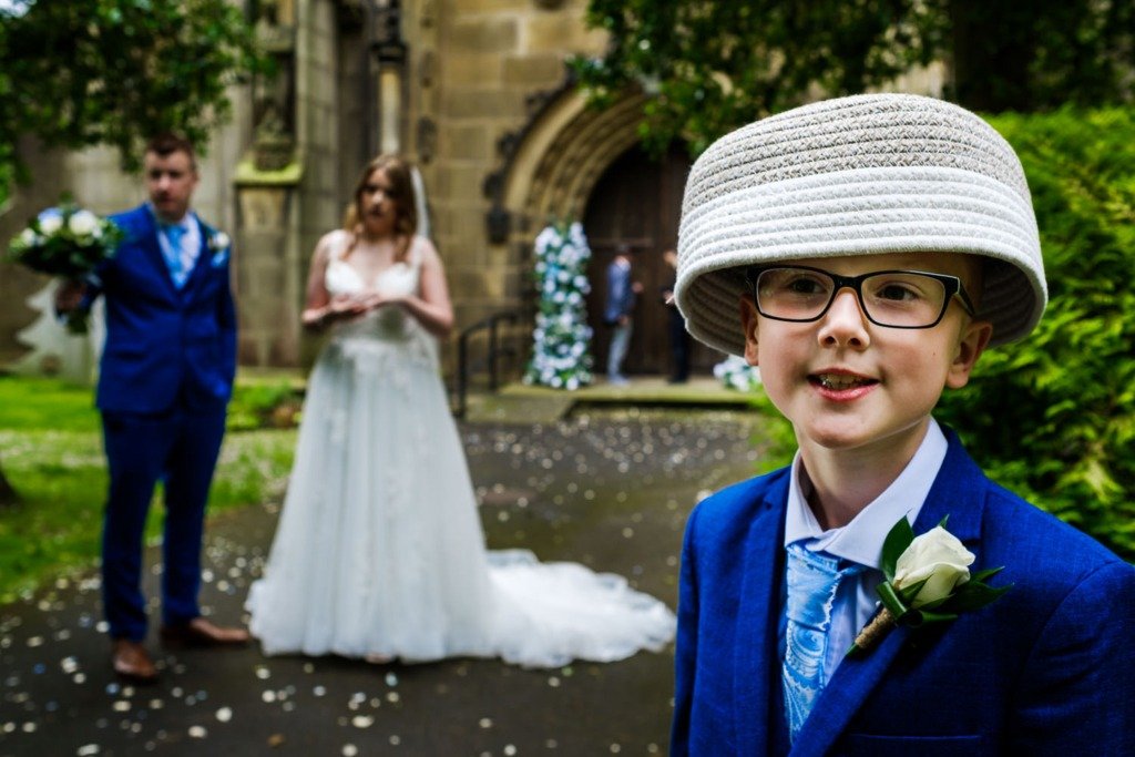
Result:
<instances>
[{"instance_id":1,"label":"bright blue suit jacket worn by the boy in glasses","mask_svg":"<svg viewBox=\"0 0 1135 757\"><path fill-rule=\"evenodd\" d=\"M1012 588L844 658L791 755L1135 755L1135 567L992 483L948 432L915 524ZM787 754L780 695L789 471L700 503L682 554L672 754Z\"/></svg>"}]
</instances>

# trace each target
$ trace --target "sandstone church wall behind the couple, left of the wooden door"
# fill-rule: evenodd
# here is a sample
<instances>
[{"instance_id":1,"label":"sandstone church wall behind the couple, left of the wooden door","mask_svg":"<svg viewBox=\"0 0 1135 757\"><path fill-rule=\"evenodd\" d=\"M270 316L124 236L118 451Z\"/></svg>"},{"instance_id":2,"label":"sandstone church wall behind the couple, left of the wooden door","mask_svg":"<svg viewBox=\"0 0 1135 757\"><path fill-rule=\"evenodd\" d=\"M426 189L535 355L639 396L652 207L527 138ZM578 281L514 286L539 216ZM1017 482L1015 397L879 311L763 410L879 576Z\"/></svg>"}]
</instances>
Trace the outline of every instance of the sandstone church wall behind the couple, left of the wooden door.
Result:
<instances>
[{"instance_id":1,"label":"sandstone church wall behind the couple, left of the wooden door","mask_svg":"<svg viewBox=\"0 0 1135 757\"><path fill-rule=\"evenodd\" d=\"M549 217L582 216L598 176L634 144L641 117L637 96L600 113L568 82L565 58L598 54L606 43L583 24L587 0L255 7L271 9L274 39L294 40L278 48L293 77L283 101L293 160L281 170L253 165L266 90L236 89L235 118L209 145L195 196L201 215L236 241L241 364L310 365L319 339L303 333L299 314L311 253L380 151L398 151L421 170L456 314L443 345L447 372L456 335L471 323L513 311L522 313L514 330L530 331L536 235ZM395 28L381 27L388 18L398 19ZM941 70L901 89L935 93ZM96 212L144 200L140 178L124 176L109 150L33 154L32 163L35 185L0 216L2 242L60 190ZM43 284L0 263L0 364L18 356L15 335L35 318L24 301Z\"/></svg>"}]
</instances>

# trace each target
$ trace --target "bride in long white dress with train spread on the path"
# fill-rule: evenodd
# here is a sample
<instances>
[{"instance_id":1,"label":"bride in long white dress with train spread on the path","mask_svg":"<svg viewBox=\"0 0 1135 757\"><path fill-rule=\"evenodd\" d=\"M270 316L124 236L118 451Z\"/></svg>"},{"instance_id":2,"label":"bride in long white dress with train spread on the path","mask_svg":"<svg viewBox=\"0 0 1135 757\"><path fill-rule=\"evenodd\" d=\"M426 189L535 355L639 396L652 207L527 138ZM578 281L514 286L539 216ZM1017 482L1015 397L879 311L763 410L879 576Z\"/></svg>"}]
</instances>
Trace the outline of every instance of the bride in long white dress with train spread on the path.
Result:
<instances>
[{"instance_id":1,"label":"bride in long white dress with train spread on the path","mask_svg":"<svg viewBox=\"0 0 1135 757\"><path fill-rule=\"evenodd\" d=\"M247 599L264 653L554 667L661 649L673 614L622 578L487 552L439 376L453 310L437 252L414 236L409 167L376 159L354 196L351 230L320 239L308 283L304 323L331 333Z\"/></svg>"}]
</instances>

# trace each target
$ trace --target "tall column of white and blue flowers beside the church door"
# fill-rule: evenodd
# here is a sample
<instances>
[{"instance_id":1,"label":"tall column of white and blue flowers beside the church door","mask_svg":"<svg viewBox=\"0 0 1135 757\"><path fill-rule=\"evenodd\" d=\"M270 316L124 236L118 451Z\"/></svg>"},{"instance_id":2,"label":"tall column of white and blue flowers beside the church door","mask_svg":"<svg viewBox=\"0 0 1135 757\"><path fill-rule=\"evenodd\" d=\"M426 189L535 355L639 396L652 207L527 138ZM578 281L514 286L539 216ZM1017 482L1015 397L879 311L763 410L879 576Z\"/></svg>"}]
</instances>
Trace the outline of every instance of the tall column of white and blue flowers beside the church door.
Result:
<instances>
[{"instance_id":1,"label":"tall column of white and blue flowers beside the church door","mask_svg":"<svg viewBox=\"0 0 1135 757\"><path fill-rule=\"evenodd\" d=\"M594 378L591 327L585 310L585 296L590 291L585 271L591 251L579 222L549 225L536 237L535 250L540 309L524 384L574 390Z\"/></svg>"}]
</instances>

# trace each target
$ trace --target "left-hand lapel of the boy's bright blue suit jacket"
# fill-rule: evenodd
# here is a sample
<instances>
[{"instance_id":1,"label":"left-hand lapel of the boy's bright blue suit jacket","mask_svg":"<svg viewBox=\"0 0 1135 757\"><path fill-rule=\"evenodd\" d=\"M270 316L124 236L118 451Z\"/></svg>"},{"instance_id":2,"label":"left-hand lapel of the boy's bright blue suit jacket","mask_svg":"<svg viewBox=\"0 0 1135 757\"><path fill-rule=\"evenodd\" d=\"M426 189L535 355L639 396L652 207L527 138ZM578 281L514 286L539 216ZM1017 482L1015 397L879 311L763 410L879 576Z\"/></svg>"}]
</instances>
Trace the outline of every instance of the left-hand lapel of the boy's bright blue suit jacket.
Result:
<instances>
[{"instance_id":1,"label":"left-hand lapel of the boy's bright blue suit jacket","mask_svg":"<svg viewBox=\"0 0 1135 757\"><path fill-rule=\"evenodd\" d=\"M749 529L741 572L742 608L755 608L753 615L743 612L738 619L737 656L733 679L733 712L737 717L739 752L759 755L768 750L770 723L775 699L771 675L780 670L776 628L780 620L780 586L783 573L784 504L789 477L770 488L765 507ZM773 570L768 557L775 555Z\"/></svg>"}]
</instances>

